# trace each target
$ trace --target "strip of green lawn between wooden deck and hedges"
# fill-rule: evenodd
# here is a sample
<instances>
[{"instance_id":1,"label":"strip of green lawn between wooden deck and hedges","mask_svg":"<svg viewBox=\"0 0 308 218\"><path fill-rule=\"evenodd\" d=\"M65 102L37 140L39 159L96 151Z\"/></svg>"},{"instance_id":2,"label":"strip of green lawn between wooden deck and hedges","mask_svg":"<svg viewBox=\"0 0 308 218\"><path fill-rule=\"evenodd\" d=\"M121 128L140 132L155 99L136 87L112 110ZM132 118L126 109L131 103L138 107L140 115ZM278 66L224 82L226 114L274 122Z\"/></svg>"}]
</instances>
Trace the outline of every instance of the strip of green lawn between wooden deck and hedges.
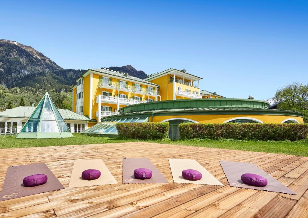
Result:
<instances>
[{"instance_id":1,"label":"strip of green lawn between wooden deck and hedges","mask_svg":"<svg viewBox=\"0 0 308 218\"><path fill-rule=\"evenodd\" d=\"M86 144L102 144L102 143L117 143L117 142L137 142L137 141L144 141L144 140L94 137L94 136L85 136L83 134L74 134L74 138L57 138L57 139L16 139L14 136L11 137L6 136L5 138L3 138L3 136L1 135L0 148L86 145ZM263 142L263 141L229 140L229 139L228 140L188 139L188 140L178 140L178 141L162 139L162 140L147 140L144 142L308 156L307 140L300 140L296 142L290 142L290 141Z\"/></svg>"}]
</instances>

